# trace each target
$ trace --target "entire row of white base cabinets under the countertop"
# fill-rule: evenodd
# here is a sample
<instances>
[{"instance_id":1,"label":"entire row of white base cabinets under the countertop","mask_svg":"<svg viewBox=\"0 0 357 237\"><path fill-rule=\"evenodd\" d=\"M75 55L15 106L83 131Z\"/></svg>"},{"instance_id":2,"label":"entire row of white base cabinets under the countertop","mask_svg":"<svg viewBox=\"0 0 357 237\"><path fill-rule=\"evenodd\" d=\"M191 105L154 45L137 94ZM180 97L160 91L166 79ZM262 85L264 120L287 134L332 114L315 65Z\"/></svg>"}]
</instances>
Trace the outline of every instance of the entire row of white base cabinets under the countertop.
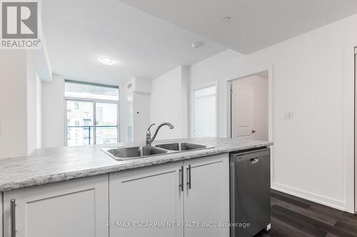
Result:
<instances>
[{"instance_id":1,"label":"entire row of white base cabinets under the countertop","mask_svg":"<svg viewBox=\"0 0 357 237\"><path fill-rule=\"evenodd\" d=\"M229 221L228 187L218 154L6 191L0 236L15 225L16 237L228 237L213 228Z\"/></svg>"}]
</instances>

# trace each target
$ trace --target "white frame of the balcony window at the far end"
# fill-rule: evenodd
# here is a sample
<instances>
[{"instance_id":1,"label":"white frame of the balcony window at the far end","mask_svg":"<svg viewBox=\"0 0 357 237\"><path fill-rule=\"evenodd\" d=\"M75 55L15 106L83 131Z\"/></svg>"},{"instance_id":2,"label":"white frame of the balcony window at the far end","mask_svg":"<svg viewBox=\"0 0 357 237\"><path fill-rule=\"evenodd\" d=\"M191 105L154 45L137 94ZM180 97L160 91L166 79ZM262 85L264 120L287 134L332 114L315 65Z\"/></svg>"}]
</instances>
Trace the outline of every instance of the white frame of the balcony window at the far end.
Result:
<instances>
[{"instance_id":1,"label":"white frame of the balcony window at the far end","mask_svg":"<svg viewBox=\"0 0 357 237\"><path fill-rule=\"evenodd\" d=\"M69 81L70 83L76 83L74 80L64 80L64 83L66 81ZM103 87L111 87L111 88L118 88L118 93L119 93L119 86L114 86L114 85L101 85L101 84L94 84L94 83L84 83L79 81L79 84L87 84L87 85L99 85ZM66 94L66 91L64 89L64 93ZM118 100L102 100L102 99L92 99L92 98L80 98L80 97L70 97L70 96L64 96L64 145L68 147L68 135L67 135L67 130L68 130L68 125L67 125L67 101L74 101L74 102L92 102L93 103L93 144L96 144L96 103L107 103L107 104L115 104L116 105L116 132L117 132L117 137L116 137L116 143L120 142L120 126L119 126L119 100L120 100L120 95L118 96ZM115 143L114 143L115 144Z\"/></svg>"}]
</instances>

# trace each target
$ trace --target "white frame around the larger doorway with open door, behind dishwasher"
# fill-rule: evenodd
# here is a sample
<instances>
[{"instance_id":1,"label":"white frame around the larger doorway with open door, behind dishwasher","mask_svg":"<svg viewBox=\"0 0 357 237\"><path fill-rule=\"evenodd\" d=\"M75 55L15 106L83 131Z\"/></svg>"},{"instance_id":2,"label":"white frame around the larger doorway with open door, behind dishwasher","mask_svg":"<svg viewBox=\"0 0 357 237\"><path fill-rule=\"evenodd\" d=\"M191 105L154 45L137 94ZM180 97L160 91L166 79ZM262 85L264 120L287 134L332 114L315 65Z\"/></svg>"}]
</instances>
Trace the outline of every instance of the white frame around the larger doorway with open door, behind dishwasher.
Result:
<instances>
[{"instance_id":1,"label":"white frame around the larger doorway with open door, behind dishwasher","mask_svg":"<svg viewBox=\"0 0 357 237\"><path fill-rule=\"evenodd\" d=\"M242 78L247 78L252 75L256 75L258 73L263 73L268 71L268 140L273 142L273 65L266 66L263 68L248 70L246 72L241 73L236 78L232 78L231 80L226 81L227 85L227 137L232 137L231 130L231 84L233 80L239 80ZM274 184L274 146L271 146L271 187Z\"/></svg>"}]
</instances>

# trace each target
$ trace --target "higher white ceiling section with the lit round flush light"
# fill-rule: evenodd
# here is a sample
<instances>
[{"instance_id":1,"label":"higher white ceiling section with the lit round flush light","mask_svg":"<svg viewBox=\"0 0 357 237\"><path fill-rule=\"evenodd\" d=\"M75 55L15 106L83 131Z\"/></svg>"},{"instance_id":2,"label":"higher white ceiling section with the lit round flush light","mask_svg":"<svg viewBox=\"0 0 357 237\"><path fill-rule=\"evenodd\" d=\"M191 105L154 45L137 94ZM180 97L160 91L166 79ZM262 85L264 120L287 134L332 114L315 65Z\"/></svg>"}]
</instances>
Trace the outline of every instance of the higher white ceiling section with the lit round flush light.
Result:
<instances>
[{"instance_id":1,"label":"higher white ceiling section with the lit round flush light","mask_svg":"<svg viewBox=\"0 0 357 237\"><path fill-rule=\"evenodd\" d=\"M117 0L42 1L43 27L54 73L120 84L156 78L226 48ZM202 41L201 48L191 43ZM105 66L100 56L119 64Z\"/></svg>"}]
</instances>

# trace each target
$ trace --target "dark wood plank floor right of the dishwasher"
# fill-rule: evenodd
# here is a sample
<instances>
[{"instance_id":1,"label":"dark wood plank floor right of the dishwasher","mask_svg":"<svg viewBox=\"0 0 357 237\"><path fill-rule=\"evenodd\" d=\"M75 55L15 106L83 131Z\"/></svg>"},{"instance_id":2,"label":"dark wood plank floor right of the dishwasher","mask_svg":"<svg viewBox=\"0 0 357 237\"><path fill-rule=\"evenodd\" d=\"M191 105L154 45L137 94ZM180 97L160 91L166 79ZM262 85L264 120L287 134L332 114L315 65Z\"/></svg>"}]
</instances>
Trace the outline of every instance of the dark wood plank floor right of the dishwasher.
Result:
<instances>
[{"instance_id":1,"label":"dark wood plank floor right of the dishwasher","mask_svg":"<svg viewBox=\"0 0 357 237\"><path fill-rule=\"evenodd\" d=\"M271 229L261 236L357 237L357 215L271 190Z\"/></svg>"}]
</instances>

